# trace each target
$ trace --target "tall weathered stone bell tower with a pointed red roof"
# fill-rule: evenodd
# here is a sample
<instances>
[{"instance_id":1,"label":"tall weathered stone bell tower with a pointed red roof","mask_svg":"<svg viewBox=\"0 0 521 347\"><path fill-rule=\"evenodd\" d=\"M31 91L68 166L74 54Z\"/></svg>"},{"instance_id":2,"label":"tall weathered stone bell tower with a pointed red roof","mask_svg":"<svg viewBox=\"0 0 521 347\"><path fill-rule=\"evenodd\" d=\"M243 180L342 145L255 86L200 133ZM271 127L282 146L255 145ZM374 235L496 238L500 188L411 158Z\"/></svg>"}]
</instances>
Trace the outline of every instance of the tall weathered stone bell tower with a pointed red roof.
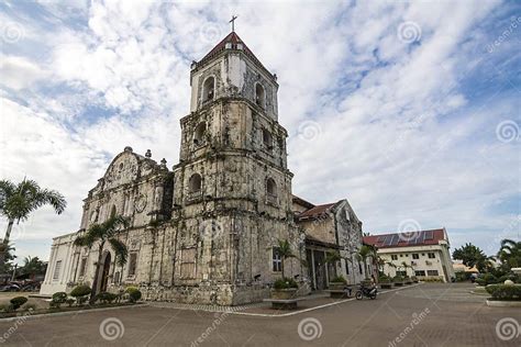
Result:
<instances>
[{"instance_id":1,"label":"tall weathered stone bell tower with a pointed red roof","mask_svg":"<svg viewBox=\"0 0 521 347\"><path fill-rule=\"evenodd\" d=\"M277 76L232 32L192 63L190 86L174 167L173 284L197 284L200 296L219 304L250 302L280 277L277 239L299 239ZM303 271L285 262L287 277Z\"/></svg>"}]
</instances>

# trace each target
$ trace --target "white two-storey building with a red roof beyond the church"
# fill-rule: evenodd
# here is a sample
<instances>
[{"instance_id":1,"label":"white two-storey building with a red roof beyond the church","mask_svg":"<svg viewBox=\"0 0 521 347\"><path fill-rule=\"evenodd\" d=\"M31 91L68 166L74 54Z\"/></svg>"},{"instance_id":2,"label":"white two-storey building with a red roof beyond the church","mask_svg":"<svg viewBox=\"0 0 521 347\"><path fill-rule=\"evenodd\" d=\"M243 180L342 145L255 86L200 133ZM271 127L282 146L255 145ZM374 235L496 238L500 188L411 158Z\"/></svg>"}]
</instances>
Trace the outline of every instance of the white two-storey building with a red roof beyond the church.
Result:
<instances>
[{"instance_id":1,"label":"white two-storey building with a red roof beyond the church","mask_svg":"<svg viewBox=\"0 0 521 347\"><path fill-rule=\"evenodd\" d=\"M364 243L378 248L387 276L440 278L444 282L455 277L445 228L365 236Z\"/></svg>"}]
</instances>

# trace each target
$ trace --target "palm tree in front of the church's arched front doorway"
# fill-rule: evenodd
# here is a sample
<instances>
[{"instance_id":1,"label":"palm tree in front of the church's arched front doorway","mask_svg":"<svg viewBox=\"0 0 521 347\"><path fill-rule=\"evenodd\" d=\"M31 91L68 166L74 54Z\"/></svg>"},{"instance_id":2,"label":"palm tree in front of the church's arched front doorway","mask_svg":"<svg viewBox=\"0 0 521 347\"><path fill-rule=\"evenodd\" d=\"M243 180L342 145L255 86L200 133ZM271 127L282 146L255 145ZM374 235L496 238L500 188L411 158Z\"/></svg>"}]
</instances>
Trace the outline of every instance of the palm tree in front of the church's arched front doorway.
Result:
<instances>
[{"instance_id":1,"label":"palm tree in front of the church's arched front doorway","mask_svg":"<svg viewBox=\"0 0 521 347\"><path fill-rule=\"evenodd\" d=\"M98 246L98 261L96 262L95 279L92 281L92 289L90 293L90 301L93 302L98 287L98 273L101 267L101 257L103 255L103 247L109 244L115 254L115 261L119 266L124 266L129 255L125 244L118 237L123 232L122 227L128 226L128 219L123 216L111 216L100 224L92 224L87 232L78 235L74 240L76 246L84 246L91 249L95 244Z\"/></svg>"}]
</instances>

